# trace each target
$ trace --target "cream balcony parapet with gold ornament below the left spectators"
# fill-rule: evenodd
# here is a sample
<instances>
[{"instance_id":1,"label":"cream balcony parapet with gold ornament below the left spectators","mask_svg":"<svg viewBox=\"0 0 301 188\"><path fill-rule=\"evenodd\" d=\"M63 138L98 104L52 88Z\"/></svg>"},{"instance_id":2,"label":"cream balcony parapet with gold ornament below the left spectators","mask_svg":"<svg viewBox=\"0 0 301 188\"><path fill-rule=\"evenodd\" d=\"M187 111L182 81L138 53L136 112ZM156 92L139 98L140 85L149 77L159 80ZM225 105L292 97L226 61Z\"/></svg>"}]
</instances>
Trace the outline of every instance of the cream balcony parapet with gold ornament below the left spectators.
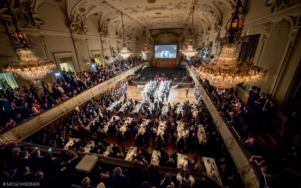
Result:
<instances>
[{"instance_id":1,"label":"cream balcony parapet with gold ornament below the left spectators","mask_svg":"<svg viewBox=\"0 0 301 188\"><path fill-rule=\"evenodd\" d=\"M56 106L45 110L42 113L39 113L37 116L28 119L26 122L22 124L16 125L10 128L8 131L4 132L0 136L1 142L8 142L11 140L20 140L28 135L36 132L40 128L50 124L54 120L60 118L67 112L70 112L77 106L81 105L82 103L86 102L87 100L91 99L92 97L97 96L101 91L110 87L112 84L124 79L125 77L129 76L130 74L134 73L138 69L141 69L142 66L147 65L148 62L141 63L119 75L114 76L111 79L108 79L105 82L102 82L98 85L95 85L92 88L87 89L86 91L78 94L68 100L65 100L62 103L57 104Z\"/></svg>"}]
</instances>

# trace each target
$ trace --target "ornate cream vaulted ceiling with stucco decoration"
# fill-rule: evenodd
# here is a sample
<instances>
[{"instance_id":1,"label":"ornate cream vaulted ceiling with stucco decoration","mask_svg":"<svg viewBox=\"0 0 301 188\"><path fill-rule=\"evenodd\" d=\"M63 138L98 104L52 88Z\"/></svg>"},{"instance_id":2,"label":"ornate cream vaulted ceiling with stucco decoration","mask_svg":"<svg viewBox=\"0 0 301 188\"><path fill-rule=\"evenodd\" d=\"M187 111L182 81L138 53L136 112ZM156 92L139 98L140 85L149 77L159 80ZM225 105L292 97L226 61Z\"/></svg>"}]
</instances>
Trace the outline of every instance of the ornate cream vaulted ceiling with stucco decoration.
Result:
<instances>
[{"instance_id":1,"label":"ornate cream vaulted ceiling with stucco decoration","mask_svg":"<svg viewBox=\"0 0 301 188\"><path fill-rule=\"evenodd\" d=\"M142 37L144 27L148 29L173 29L186 27L191 32L192 7L195 6L193 35L200 35L213 29L218 31L225 14L229 15L237 0L28 0L37 12L39 6L48 2L59 7L69 19L69 26L76 33L85 34L85 20L92 18L102 36L110 35L108 27L113 26L121 35L121 12L126 35ZM243 0L245 7L245 0ZM226 18L228 19L228 17ZM138 36L139 35L139 36Z\"/></svg>"}]
</instances>

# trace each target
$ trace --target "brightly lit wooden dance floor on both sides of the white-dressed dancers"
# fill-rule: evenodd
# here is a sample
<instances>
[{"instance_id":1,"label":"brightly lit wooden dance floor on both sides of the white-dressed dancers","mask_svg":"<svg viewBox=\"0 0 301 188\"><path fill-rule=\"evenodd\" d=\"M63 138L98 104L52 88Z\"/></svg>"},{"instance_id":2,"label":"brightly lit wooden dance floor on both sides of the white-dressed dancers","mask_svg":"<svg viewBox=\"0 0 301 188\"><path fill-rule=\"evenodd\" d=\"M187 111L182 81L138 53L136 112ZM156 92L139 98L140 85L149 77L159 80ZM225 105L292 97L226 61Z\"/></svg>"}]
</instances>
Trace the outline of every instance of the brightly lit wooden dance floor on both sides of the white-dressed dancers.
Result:
<instances>
[{"instance_id":1,"label":"brightly lit wooden dance floor on both sides of the white-dressed dancers","mask_svg":"<svg viewBox=\"0 0 301 188\"><path fill-rule=\"evenodd\" d=\"M128 100L133 99L138 100L138 102L142 102L141 100L141 91L143 91L143 88L138 88L137 86L129 85L129 89L126 91L128 94ZM169 97L168 97L168 103L180 103L183 104L186 100L189 100L190 103L195 102L197 103L197 100L195 99L195 96L193 94L193 88L189 88L188 91L188 98L185 97L186 91L185 88L177 88L177 89L170 89L169 91ZM120 98L120 101L123 101L124 96ZM165 98L164 98L164 102Z\"/></svg>"}]
</instances>

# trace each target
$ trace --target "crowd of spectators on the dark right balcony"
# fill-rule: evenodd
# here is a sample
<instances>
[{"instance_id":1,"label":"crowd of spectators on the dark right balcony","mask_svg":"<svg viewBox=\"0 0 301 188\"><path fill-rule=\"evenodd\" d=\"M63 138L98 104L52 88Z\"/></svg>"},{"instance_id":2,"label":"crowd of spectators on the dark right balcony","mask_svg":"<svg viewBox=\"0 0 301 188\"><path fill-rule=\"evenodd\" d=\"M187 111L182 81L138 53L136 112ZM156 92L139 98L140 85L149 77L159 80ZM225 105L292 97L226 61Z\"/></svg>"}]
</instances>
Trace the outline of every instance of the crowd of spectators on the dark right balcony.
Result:
<instances>
[{"instance_id":1,"label":"crowd of spectators on the dark right balcony","mask_svg":"<svg viewBox=\"0 0 301 188\"><path fill-rule=\"evenodd\" d=\"M201 62L201 59L191 60L187 63L194 69ZM250 163L256 163L258 168L263 170L268 185L281 187L284 184L283 178L289 180L290 185L300 185L301 181L301 155L300 147L293 142L294 137L301 130L298 112L289 114L284 124L284 134L278 140L276 149L273 150L268 144L260 146L258 138L247 138L248 133L262 135L273 129L278 111L277 101L272 94L265 94L259 87L252 86L249 89L247 101L238 97L233 88L218 94L208 82L202 82L203 88L211 94L213 103L216 103L217 110L222 116L228 119L228 123L242 136L243 146L250 151L252 157ZM199 95L197 88L194 90ZM259 171L261 171L259 169ZM279 177L283 177L279 179Z\"/></svg>"}]
</instances>

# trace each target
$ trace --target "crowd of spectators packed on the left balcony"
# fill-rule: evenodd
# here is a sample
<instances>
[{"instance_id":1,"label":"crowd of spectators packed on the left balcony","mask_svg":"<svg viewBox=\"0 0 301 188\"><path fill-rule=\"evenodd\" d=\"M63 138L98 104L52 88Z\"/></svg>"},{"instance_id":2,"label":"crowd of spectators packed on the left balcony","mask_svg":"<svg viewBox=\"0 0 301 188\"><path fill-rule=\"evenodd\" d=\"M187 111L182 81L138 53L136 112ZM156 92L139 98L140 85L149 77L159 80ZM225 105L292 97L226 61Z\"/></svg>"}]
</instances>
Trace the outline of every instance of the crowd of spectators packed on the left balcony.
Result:
<instances>
[{"instance_id":1,"label":"crowd of spectators packed on the left balcony","mask_svg":"<svg viewBox=\"0 0 301 188\"><path fill-rule=\"evenodd\" d=\"M53 83L48 85L42 82L44 96L41 96L34 85L30 88L11 88L6 85L6 89L0 90L0 112L4 119L0 125L0 132L5 128L15 126L26 119L49 109L68 98L74 97L86 89L98 85L105 80L112 78L141 63L141 58L134 57L127 60L114 61L105 66L96 64L96 70L72 72L62 70L63 76L60 76Z\"/></svg>"}]
</instances>

